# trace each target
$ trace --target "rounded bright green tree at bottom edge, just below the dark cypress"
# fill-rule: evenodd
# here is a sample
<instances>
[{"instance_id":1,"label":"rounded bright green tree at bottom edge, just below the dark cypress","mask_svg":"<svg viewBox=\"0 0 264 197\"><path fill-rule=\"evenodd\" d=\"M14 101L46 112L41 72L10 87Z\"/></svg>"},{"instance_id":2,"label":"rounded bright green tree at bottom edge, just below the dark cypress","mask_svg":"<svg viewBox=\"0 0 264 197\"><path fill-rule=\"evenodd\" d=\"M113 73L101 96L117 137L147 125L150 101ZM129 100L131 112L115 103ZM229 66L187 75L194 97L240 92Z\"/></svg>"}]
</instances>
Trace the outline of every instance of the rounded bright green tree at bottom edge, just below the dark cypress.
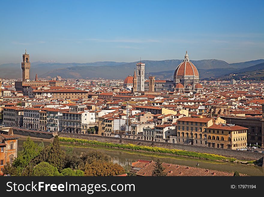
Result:
<instances>
[{"instance_id":1,"label":"rounded bright green tree at bottom edge, just below the dark cypress","mask_svg":"<svg viewBox=\"0 0 264 197\"><path fill-rule=\"evenodd\" d=\"M60 176L58 169L47 162L41 162L33 170L34 176Z\"/></svg>"}]
</instances>

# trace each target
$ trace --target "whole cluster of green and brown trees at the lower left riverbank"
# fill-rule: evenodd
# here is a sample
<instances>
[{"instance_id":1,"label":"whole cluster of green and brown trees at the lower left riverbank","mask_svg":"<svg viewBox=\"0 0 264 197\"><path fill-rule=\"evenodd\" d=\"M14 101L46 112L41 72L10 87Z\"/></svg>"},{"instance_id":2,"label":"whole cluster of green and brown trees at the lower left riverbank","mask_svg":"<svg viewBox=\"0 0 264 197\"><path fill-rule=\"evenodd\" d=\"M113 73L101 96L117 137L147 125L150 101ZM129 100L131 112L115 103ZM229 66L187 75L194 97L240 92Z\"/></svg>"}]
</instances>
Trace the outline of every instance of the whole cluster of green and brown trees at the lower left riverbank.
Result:
<instances>
[{"instance_id":1,"label":"whole cluster of green and brown trees at the lower left riverbank","mask_svg":"<svg viewBox=\"0 0 264 197\"><path fill-rule=\"evenodd\" d=\"M47 146L28 138L14 162L4 166L4 174L16 176L115 176L124 173L122 166L111 163L109 156L102 152L91 151L77 157L72 148L61 150L58 136Z\"/></svg>"}]
</instances>

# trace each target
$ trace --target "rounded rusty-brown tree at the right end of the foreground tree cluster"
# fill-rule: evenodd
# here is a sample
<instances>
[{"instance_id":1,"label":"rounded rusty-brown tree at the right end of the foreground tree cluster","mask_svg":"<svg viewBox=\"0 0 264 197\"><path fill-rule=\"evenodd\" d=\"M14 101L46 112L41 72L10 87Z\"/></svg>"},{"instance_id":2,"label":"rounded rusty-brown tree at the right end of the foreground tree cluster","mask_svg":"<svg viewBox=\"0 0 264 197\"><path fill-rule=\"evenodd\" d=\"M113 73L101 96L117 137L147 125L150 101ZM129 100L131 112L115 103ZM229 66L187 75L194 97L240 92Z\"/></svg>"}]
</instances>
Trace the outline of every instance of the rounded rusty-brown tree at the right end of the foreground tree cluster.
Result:
<instances>
[{"instance_id":1,"label":"rounded rusty-brown tree at the right end of the foreground tree cluster","mask_svg":"<svg viewBox=\"0 0 264 197\"><path fill-rule=\"evenodd\" d=\"M116 176L124 173L125 169L117 163L99 161L87 163L84 171L85 176Z\"/></svg>"}]
</instances>

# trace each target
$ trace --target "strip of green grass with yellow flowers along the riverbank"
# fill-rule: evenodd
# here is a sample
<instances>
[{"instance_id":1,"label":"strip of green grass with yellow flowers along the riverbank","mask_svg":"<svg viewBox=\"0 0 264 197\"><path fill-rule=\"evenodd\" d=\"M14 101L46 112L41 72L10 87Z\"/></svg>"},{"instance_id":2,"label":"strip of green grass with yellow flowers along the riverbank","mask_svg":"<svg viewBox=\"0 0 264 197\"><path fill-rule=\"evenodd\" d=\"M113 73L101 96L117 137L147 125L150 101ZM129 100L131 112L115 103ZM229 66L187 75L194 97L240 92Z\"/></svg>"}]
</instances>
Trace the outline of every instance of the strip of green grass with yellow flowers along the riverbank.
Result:
<instances>
[{"instance_id":1,"label":"strip of green grass with yellow flowers along the riverbank","mask_svg":"<svg viewBox=\"0 0 264 197\"><path fill-rule=\"evenodd\" d=\"M59 138L61 142L70 142L70 143L77 143L77 144L88 144L88 145L97 145L97 146L105 146L111 148L123 148L123 149L130 149L130 150L138 150L138 151L147 151L147 152L155 152L155 153L167 153L179 156L187 156L187 157L196 157L200 159L206 160L224 160L233 162L236 159L230 157L223 157L216 154L207 154L207 153L196 153L191 151L182 151L176 149L168 149L168 148L160 148L160 147L151 147L151 146L139 146L134 144L114 144L110 142L98 142L86 139L74 139L74 138Z\"/></svg>"}]
</instances>

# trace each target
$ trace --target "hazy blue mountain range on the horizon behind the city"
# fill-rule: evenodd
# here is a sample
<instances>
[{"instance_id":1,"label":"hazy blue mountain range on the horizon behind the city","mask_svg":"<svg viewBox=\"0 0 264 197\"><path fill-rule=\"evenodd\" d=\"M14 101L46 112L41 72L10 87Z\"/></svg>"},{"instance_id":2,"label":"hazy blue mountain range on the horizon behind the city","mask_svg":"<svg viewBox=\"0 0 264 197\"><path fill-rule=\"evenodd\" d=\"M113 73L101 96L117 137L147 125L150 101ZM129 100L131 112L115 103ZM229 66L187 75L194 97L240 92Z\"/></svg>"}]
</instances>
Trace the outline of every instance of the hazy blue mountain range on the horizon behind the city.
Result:
<instances>
[{"instance_id":1,"label":"hazy blue mountain range on the horizon behind the city","mask_svg":"<svg viewBox=\"0 0 264 197\"><path fill-rule=\"evenodd\" d=\"M143 60L145 66L145 78L154 75L155 79L173 79L173 73L183 60ZM230 73L243 73L253 70L264 69L264 59L252 60L228 64L217 59L190 60L198 69L200 78L221 77ZM30 77L35 79L35 73L41 78L53 78L61 76L72 79L124 79L128 75L134 74L137 62L114 62L99 61L93 63L44 63L32 62ZM244 69L244 70L243 70ZM0 77L21 78L21 63L9 63L0 65Z\"/></svg>"}]
</instances>

